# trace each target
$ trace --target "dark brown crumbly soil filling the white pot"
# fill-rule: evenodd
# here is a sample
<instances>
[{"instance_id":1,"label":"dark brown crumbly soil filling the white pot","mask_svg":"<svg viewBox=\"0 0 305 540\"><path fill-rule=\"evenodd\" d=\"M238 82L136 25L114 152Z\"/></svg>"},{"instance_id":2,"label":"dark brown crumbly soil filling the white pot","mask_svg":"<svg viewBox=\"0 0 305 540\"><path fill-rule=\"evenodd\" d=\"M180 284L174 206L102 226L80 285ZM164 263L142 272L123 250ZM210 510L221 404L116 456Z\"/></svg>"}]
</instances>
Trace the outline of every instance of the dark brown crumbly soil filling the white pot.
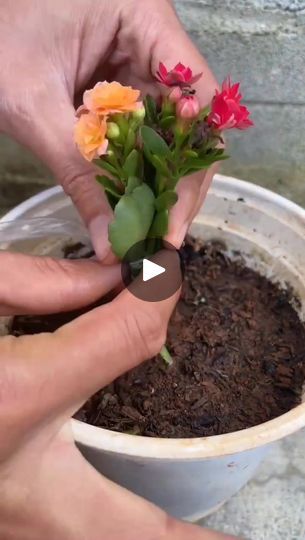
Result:
<instances>
[{"instance_id":1,"label":"dark brown crumbly soil filling the white pot","mask_svg":"<svg viewBox=\"0 0 305 540\"><path fill-rule=\"evenodd\" d=\"M143 363L76 418L150 437L202 437L255 426L301 402L305 328L289 293L241 258L230 260L218 243L188 239L182 254L185 282L168 332L173 365L160 357ZM89 254L75 246L65 255ZM11 332L54 331L80 313L18 316Z\"/></svg>"}]
</instances>

